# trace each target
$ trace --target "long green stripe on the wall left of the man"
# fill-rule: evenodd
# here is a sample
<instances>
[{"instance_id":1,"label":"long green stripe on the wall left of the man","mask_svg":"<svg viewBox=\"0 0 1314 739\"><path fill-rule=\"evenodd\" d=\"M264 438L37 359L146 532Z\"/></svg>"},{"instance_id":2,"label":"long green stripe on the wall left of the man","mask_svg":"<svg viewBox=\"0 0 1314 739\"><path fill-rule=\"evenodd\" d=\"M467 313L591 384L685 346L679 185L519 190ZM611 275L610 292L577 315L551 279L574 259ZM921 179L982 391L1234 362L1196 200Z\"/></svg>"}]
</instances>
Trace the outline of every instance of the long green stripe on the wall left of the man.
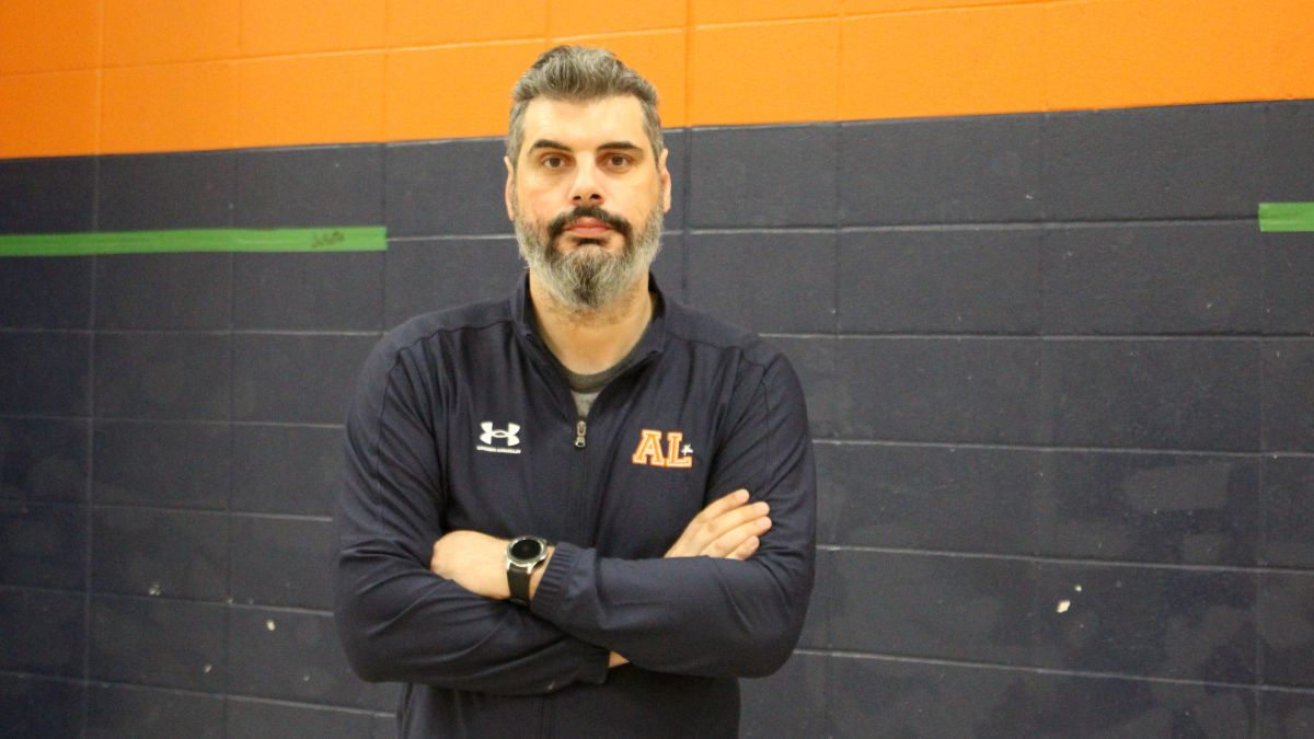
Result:
<instances>
[{"instance_id":1,"label":"long green stripe on the wall left of the man","mask_svg":"<svg viewBox=\"0 0 1314 739\"><path fill-rule=\"evenodd\" d=\"M0 235L0 256L84 256L184 251L385 251L384 226L318 229L183 229Z\"/></svg>"}]
</instances>

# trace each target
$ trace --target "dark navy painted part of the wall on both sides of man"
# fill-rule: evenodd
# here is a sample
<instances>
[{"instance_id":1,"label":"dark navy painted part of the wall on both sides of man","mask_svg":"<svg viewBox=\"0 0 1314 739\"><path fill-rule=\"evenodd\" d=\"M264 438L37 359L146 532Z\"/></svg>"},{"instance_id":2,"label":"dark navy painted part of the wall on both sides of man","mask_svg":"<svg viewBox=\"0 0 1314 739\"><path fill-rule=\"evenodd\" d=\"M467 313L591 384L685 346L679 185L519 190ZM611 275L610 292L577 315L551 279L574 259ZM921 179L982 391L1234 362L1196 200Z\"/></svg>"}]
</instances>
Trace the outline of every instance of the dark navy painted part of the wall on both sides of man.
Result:
<instances>
[{"instance_id":1,"label":"dark navy painted part of the wall on both sides of man","mask_svg":"<svg viewBox=\"0 0 1314 739\"><path fill-rule=\"evenodd\" d=\"M657 274L807 385L820 577L754 736L1314 732L1314 103L669 137ZM519 274L499 141L0 162L5 233L380 224L386 252L0 259L14 735L376 736L326 560L381 330Z\"/></svg>"}]
</instances>

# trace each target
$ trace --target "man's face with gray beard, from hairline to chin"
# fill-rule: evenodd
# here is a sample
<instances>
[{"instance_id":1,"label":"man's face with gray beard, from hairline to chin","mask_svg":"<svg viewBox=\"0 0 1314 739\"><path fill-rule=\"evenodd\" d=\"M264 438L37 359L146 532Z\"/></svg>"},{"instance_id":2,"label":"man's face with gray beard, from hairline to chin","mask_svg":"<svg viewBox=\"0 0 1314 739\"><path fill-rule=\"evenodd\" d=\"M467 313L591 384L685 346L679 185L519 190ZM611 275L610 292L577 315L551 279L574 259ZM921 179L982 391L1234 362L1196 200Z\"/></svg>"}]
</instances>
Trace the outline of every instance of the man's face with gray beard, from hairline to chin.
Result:
<instances>
[{"instance_id":1,"label":"man's face with gray beard, from hairline to chin","mask_svg":"<svg viewBox=\"0 0 1314 739\"><path fill-rule=\"evenodd\" d=\"M639 100L540 97L522 141L506 181L520 255L568 308L611 304L646 274L670 209L666 153L653 162Z\"/></svg>"}]
</instances>

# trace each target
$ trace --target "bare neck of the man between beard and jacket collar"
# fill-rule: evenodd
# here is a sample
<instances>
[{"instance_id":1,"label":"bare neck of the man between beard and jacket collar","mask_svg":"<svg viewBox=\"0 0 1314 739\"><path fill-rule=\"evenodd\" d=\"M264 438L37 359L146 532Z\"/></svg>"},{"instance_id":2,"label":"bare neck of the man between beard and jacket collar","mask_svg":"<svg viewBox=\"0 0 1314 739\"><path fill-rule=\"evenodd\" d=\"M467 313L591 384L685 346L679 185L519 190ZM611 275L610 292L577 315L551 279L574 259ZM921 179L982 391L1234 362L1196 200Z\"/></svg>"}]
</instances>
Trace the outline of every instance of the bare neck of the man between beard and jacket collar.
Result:
<instances>
[{"instance_id":1,"label":"bare neck of the man between beard and jacket collar","mask_svg":"<svg viewBox=\"0 0 1314 739\"><path fill-rule=\"evenodd\" d=\"M594 375L611 368L639 343L652 320L648 274L598 310L577 310L557 302L530 271L530 298L543 341L572 372Z\"/></svg>"}]
</instances>

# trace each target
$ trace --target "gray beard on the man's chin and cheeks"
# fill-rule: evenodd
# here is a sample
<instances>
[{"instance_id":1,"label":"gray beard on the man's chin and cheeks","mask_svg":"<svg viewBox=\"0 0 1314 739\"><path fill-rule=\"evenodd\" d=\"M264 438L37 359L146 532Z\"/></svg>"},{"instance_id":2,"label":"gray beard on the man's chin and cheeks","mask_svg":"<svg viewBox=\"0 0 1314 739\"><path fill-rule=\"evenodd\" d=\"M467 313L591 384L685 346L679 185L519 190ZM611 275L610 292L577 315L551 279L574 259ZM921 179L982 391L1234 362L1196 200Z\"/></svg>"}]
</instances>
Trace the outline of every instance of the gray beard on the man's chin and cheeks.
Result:
<instances>
[{"instance_id":1,"label":"gray beard on the man's chin and cheeks","mask_svg":"<svg viewBox=\"0 0 1314 739\"><path fill-rule=\"evenodd\" d=\"M602 246L579 246L562 254L548 242L547 227L526 222L519 213L515 238L520 256L553 300L576 312L594 313L625 295L648 272L661 249L661 210L653 208L619 255Z\"/></svg>"}]
</instances>

